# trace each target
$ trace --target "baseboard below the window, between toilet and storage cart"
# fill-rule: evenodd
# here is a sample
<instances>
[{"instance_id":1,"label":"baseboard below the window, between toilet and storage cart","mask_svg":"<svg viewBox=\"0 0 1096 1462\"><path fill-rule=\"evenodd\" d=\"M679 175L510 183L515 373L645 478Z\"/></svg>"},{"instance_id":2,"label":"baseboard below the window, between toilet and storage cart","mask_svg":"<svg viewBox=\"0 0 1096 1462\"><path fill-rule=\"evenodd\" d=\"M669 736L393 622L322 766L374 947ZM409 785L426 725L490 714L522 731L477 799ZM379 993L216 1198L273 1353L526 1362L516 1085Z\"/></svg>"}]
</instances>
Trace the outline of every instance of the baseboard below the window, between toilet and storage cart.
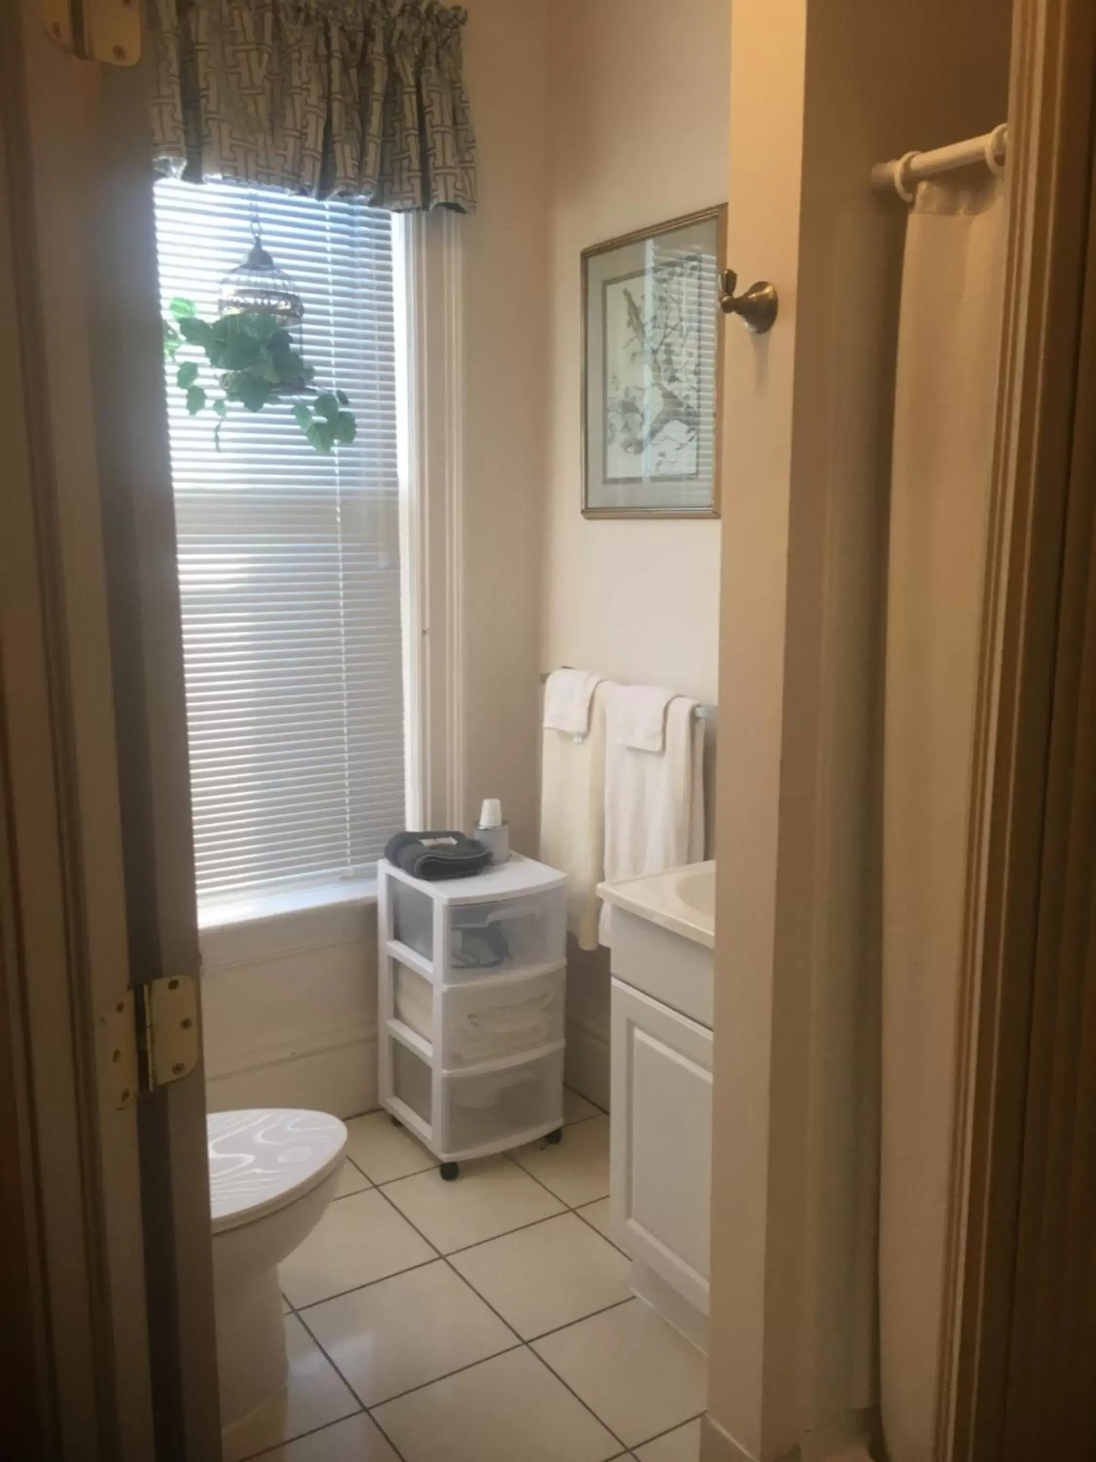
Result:
<instances>
[{"instance_id":1,"label":"baseboard below the window, between toilet and storage cart","mask_svg":"<svg viewBox=\"0 0 1096 1462\"><path fill-rule=\"evenodd\" d=\"M377 1105L377 1037L349 1041L213 1076L206 1082L209 1111L240 1107L304 1107L357 1117Z\"/></svg>"}]
</instances>

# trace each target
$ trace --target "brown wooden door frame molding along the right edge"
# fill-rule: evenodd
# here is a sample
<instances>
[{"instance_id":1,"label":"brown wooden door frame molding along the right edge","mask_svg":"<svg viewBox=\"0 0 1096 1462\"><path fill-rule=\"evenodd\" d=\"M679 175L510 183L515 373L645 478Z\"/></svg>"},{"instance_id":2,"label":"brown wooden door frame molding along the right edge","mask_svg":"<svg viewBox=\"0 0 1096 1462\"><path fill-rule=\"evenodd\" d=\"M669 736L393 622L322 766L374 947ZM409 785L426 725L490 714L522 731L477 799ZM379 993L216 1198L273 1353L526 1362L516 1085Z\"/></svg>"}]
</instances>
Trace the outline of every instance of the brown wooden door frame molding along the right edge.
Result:
<instances>
[{"instance_id":1,"label":"brown wooden door frame molding along the right edge","mask_svg":"<svg viewBox=\"0 0 1096 1462\"><path fill-rule=\"evenodd\" d=\"M1005 1455L1016 1275L1024 1257L1019 1221L1024 1127L1029 1083L1036 1077L1032 1016L1036 984L1046 975L1036 962L1046 912L1040 898L1058 857L1048 800L1057 759L1054 706L1065 690L1062 677L1077 674L1059 629L1070 613L1068 595L1084 592L1081 576L1070 583L1062 572L1068 531L1083 531L1078 525L1096 491L1081 474L1074 472L1071 482L1076 427L1084 425L1076 402L1086 249L1092 249L1093 60L1090 4L1017 0L1007 313L935 1443L937 1456L950 1462L998 1462ZM1090 744L1076 750L1092 759Z\"/></svg>"}]
</instances>

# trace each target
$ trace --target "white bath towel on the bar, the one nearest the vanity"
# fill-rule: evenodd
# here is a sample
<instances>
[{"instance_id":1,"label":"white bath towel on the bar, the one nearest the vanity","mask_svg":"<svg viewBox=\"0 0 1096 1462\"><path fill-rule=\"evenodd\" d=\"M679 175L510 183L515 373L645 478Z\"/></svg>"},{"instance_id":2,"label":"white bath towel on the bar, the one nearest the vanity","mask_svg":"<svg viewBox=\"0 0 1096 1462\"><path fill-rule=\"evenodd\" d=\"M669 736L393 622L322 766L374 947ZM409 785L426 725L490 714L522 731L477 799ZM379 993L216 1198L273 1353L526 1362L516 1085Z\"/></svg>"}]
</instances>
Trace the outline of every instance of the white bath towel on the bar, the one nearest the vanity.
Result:
<instances>
[{"instance_id":1,"label":"white bath towel on the bar, the one nearest the vanity","mask_svg":"<svg viewBox=\"0 0 1096 1462\"><path fill-rule=\"evenodd\" d=\"M671 696L665 749L639 751L633 686L611 686L605 715L605 882L661 873L704 857L704 724L697 702ZM668 693L666 693L668 694ZM652 697L646 699L650 709ZM601 942L609 943L609 909Z\"/></svg>"}]
</instances>

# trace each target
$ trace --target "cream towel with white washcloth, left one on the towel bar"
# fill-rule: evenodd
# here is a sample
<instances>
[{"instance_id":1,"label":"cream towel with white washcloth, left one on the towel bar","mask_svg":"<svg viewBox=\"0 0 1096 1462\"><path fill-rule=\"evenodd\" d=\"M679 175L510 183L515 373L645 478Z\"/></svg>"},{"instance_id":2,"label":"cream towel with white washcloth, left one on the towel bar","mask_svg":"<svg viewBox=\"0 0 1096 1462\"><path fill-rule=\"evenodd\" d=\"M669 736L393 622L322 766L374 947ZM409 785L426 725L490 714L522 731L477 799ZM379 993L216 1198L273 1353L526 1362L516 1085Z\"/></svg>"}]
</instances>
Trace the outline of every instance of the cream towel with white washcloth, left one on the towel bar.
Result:
<instances>
[{"instance_id":1,"label":"cream towel with white washcloth, left one on the towel bar","mask_svg":"<svg viewBox=\"0 0 1096 1462\"><path fill-rule=\"evenodd\" d=\"M580 949L598 947L598 885L605 876L605 705L615 689L580 670L557 670L544 687L541 860L567 874L567 928ZM561 719L576 730L558 730Z\"/></svg>"}]
</instances>

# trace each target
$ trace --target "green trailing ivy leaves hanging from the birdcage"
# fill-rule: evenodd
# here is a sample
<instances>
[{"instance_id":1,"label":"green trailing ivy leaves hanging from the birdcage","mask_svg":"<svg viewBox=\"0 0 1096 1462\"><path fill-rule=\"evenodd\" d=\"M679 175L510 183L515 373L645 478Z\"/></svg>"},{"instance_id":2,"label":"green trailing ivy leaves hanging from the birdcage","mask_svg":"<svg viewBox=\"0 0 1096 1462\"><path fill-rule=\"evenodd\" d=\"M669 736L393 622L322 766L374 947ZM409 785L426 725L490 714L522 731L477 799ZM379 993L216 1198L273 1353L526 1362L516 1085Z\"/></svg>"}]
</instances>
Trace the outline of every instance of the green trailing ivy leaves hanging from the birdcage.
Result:
<instances>
[{"instance_id":1,"label":"green trailing ivy leaves hanging from the birdcage","mask_svg":"<svg viewBox=\"0 0 1096 1462\"><path fill-rule=\"evenodd\" d=\"M294 349L289 332L270 314L222 314L202 320L190 300L172 300L171 317L164 320L164 355L178 368L175 385L187 393L187 411L196 417L210 406L218 417L213 442L221 449L221 428L229 406L262 411L286 395L313 392L311 402L298 401L292 415L317 452L354 442L357 423L346 411L345 390L316 390L316 371ZM199 382L202 361L178 361L178 354L193 346L221 374L216 386Z\"/></svg>"}]
</instances>

